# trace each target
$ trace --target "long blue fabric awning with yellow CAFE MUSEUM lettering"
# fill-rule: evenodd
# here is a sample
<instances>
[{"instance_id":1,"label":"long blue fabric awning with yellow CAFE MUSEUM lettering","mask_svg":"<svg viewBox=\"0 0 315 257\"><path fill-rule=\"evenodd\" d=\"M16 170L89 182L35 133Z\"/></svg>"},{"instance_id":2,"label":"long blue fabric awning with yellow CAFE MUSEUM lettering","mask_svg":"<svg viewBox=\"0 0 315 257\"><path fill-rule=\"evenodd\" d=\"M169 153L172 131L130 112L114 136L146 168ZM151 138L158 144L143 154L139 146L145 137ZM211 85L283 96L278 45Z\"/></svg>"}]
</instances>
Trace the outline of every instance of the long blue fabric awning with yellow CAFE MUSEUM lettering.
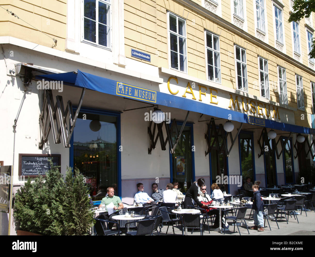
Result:
<instances>
[{"instance_id":1,"label":"long blue fabric awning with yellow CAFE MUSEUM lettering","mask_svg":"<svg viewBox=\"0 0 315 257\"><path fill-rule=\"evenodd\" d=\"M167 93L156 92L150 89L145 89L133 85L129 85L123 81L114 81L103 77L95 76L89 73L77 71L73 72L49 74L36 76L37 79L45 79L50 81L63 81L77 87L85 87L90 90L121 96L129 99L136 99L144 103L153 103L157 105L164 105L173 108L178 108L186 111L194 111L203 113L209 116L227 119L231 114L233 121L249 123L248 115L237 111L227 110L218 106L208 105L199 101L185 99L182 97L170 95ZM260 118L261 119L261 118ZM269 119L263 119L265 127L271 129L278 129L289 131L293 133L315 134L314 129L297 126L288 123L281 123ZM312 133L311 133L312 132Z\"/></svg>"}]
</instances>

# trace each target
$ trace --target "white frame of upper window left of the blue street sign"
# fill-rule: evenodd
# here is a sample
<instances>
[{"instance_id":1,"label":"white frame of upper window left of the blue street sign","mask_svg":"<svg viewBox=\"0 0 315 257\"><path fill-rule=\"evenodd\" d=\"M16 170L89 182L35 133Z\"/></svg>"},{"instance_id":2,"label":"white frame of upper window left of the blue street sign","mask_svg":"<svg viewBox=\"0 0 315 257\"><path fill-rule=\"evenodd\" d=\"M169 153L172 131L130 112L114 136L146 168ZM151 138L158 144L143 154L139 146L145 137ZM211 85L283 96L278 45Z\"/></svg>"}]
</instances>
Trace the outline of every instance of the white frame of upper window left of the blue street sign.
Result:
<instances>
[{"instance_id":1,"label":"white frame of upper window left of the blue street sign","mask_svg":"<svg viewBox=\"0 0 315 257\"><path fill-rule=\"evenodd\" d=\"M100 45L98 44L98 26L99 26L99 21L98 21L98 4L99 2L102 2L102 3L105 3L106 5L109 6L110 8L110 18L109 18L109 22L110 22L110 25L107 25L107 24L103 24L105 26L108 26L110 27L110 30L109 30L109 46L104 46L104 45ZM82 9L81 9L81 41L84 42L84 43L87 43L87 44L90 44L90 45L95 45L97 47L100 47L100 48L104 48L104 49L107 49L107 50L112 50L112 0L95 0L95 9L96 9L96 16L95 16L95 23L96 23L96 27L95 27L95 32L96 32L96 39L95 41L96 42L92 42L92 41L89 41L88 39L84 39L84 0L82 0ZM89 19L89 18L87 18Z\"/></svg>"}]
</instances>

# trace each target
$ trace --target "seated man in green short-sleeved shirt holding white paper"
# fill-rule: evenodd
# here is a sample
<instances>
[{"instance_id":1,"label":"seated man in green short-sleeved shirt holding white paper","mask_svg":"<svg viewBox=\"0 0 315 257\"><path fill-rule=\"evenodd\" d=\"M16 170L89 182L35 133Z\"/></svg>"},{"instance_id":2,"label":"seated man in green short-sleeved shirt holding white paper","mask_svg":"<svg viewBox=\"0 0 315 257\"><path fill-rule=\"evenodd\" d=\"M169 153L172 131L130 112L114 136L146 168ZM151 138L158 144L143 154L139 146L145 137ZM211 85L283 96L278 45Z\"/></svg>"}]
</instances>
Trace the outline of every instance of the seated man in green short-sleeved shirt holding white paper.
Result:
<instances>
[{"instance_id":1,"label":"seated man in green short-sleeved shirt holding white paper","mask_svg":"<svg viewBox=\"0 0 315 257\"><path fill-rule=\"evenodd\" d=\"M104 219L114 221L112 217L118 214L119 209L123 209L123 203L118 196L114 195L114 188L107 188L107 194L108 195L101 200L99 208L105 206L105 212L102 213L105 217ZM113 207L110 208L108 206L109 204L113 204ZM108 223L109 229L112 229L112 226L112 223Z\"/></svg>"}]
</instances>

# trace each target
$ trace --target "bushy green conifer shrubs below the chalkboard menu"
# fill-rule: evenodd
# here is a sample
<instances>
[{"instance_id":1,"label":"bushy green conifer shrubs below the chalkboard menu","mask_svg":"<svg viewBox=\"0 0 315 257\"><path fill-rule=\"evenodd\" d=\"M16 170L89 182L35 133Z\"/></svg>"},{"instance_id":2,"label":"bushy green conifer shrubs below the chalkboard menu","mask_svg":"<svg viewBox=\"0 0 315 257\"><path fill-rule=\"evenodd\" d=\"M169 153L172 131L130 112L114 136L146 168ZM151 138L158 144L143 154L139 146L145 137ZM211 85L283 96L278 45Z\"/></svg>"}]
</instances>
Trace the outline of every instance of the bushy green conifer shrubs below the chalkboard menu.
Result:
<instances>
[{"instance_id":1,"label":"bushy green conifer shrubs below the chalkboard menu","mask_svg":"<svg viewBox=\"0 0 315 257\"><path fill-rule=\"evenodd\" d=\"M59 166L50 162L46 182L39 176L17 190L14 222L17 229L42 235L86 235L93 223L83 175L72 176L67 167L66 182Z\"/></svg>"}]
</instances>

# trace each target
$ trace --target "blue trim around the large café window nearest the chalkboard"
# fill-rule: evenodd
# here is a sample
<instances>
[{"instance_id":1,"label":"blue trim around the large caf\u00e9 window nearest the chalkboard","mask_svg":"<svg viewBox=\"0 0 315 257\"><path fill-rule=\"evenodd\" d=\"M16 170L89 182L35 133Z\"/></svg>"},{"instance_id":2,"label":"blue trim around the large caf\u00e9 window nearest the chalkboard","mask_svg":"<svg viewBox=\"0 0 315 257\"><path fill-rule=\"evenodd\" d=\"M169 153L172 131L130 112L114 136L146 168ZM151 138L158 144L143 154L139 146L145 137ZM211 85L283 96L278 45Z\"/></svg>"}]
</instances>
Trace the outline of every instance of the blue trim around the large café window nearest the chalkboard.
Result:
<instances>
[{"instance_id":1,"label":"blue trim around the large caf\u00e9 window nearest the chalkboard","mask_svg":"<svg viewBox=\"0 0 315 257\"><path fill-rule=\"evenodd\" d=\"M77 111L77 106L72 106L73 111ZM120 126L120 114L121 112L119 111L106 111L106 110L102 110L102 109L93 109L93 108L89 108L89 107L81 107L80 112L86 112L86 113L92 113L92 114L100 114L100 115L107 115L107 116L114 116L117 117L117 188L118 188L118 196L121 198L122 195L122 190L121 190L121 152L119 151L119 146L121 146L121 126ZM70 140L70 144L71 147L69 149L70 153L69 153L69 164L70 167L72 167L73 170L73 135L75 133L75 130L72 133L72 137Z\"/></svg>"}]
</instances>

